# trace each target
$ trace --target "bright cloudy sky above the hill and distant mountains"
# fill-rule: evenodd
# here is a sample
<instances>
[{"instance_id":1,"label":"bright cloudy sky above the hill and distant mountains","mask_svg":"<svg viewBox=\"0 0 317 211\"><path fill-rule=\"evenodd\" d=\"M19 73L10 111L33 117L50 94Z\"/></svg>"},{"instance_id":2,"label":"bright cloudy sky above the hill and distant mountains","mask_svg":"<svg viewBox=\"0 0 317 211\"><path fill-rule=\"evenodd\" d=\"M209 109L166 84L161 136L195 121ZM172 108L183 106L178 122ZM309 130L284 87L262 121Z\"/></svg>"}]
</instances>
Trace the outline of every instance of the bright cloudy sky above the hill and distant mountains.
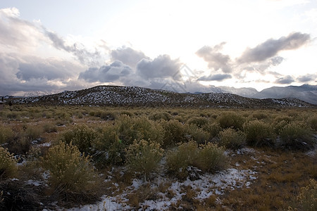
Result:
<instances>
[{"instance_id":1,"label":"bright cloudy sky above the hill and distant mountains","mask_svg":"<svg viewBox=\"0 0 317 211\"><path fill-rule=\"evenodd\" d=\"M0 95L317 84L316 0L1 0Z\"/></svg>"}]
</instances>

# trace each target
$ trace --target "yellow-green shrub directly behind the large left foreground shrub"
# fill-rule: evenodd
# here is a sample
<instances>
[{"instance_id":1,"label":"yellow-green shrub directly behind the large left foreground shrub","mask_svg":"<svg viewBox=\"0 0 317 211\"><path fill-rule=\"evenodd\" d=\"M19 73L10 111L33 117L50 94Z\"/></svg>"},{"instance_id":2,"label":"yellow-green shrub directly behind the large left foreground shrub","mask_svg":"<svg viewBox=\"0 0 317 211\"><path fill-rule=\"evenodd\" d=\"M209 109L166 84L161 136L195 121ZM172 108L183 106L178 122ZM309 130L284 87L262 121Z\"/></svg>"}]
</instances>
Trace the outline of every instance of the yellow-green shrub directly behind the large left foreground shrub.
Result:
<instances>
[{"instance_id":1,"label":"yellow-green shrub directly behind the large left foreground shrub","mask_svg":"<svg viewBox=\"0 0 317 211\"><path fill-rule=\"evenodd\" d=\"M92 141L96 139L97 132L87 127L85 124L76 126L74 129L68 129L61 134L61 140L65 143L72 142L81 152L90 152Z\"/></svg>"}]
</instances>

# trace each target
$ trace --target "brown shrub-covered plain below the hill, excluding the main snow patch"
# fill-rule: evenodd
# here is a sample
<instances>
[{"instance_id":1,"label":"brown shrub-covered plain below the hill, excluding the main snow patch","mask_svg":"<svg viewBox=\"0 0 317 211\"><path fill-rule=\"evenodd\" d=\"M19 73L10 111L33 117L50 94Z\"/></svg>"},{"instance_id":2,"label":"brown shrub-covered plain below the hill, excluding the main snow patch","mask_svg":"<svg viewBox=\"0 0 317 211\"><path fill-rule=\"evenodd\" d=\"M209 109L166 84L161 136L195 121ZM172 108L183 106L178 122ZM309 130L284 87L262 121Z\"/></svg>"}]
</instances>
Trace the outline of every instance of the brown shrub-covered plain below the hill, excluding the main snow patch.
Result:
<instances>
[{"instance_id":1,"label":"brown shrub-covered plain below the hill, excluding the main snow patch","mask_svg":"<svg viewBox=\"0 0 317 211\"><path fill-rule=\"evenodd\" d=\"M118 194L135 210L163 197L173 199L171 210L316 210L315 108L15 105L0 111L0 122L1 210L54 210ZM175 200L176 182L238 170L255 172L252 182L206 198L184 185ZM157 177L164 182L153 183Z\"/></svg>"}]
</instances>

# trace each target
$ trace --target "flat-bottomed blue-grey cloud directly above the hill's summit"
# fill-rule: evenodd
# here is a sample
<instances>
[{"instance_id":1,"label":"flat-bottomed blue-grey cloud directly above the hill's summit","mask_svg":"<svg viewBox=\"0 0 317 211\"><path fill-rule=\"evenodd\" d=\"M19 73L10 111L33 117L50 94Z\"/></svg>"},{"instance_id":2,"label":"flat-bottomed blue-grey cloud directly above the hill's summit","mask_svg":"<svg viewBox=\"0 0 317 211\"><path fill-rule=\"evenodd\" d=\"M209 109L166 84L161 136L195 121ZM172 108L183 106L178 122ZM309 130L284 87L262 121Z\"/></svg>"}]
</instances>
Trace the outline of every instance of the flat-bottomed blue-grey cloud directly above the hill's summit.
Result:
<instances>
[{"instance_id":1,"label":"flat-bottomed blue-grey cloud directly above the hill's summit","mask_svg":"<svg viewBox=\"0 0 317 211\"><path fill-rule=\"evenodd\" d=\"M122 77L130 75L132 69L116 60L111 65L103 65L101 68L89 68L85 72L80 72L78 79L86 82L114 82Z\"/></svg>"}]
</instances>

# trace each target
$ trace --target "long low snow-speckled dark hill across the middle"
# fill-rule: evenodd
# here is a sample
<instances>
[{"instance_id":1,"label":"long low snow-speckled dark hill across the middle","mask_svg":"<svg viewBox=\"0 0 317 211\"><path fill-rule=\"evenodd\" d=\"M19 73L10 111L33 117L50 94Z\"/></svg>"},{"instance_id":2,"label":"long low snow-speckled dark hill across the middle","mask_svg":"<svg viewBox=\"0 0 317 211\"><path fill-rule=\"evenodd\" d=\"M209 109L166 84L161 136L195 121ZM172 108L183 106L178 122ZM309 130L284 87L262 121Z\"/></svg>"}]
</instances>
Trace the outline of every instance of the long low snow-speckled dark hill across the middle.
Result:
<instances>
[{"instance_id":1,"label":"long low snow-speckled dark hill across the middle","mask_svg":"<svg viewBox=\"0 0 317 211\"><path fill-rule=\"evenodd\" d=\"M257 99L229 93L181 94L161 89L117 86L97 86L78 91L63 91L59 94L45 96L12 98L12 103L27 103L31 105L181 106L204 108L313 107L309 103L294 98Z\"/></svg>"}]
</instances>

